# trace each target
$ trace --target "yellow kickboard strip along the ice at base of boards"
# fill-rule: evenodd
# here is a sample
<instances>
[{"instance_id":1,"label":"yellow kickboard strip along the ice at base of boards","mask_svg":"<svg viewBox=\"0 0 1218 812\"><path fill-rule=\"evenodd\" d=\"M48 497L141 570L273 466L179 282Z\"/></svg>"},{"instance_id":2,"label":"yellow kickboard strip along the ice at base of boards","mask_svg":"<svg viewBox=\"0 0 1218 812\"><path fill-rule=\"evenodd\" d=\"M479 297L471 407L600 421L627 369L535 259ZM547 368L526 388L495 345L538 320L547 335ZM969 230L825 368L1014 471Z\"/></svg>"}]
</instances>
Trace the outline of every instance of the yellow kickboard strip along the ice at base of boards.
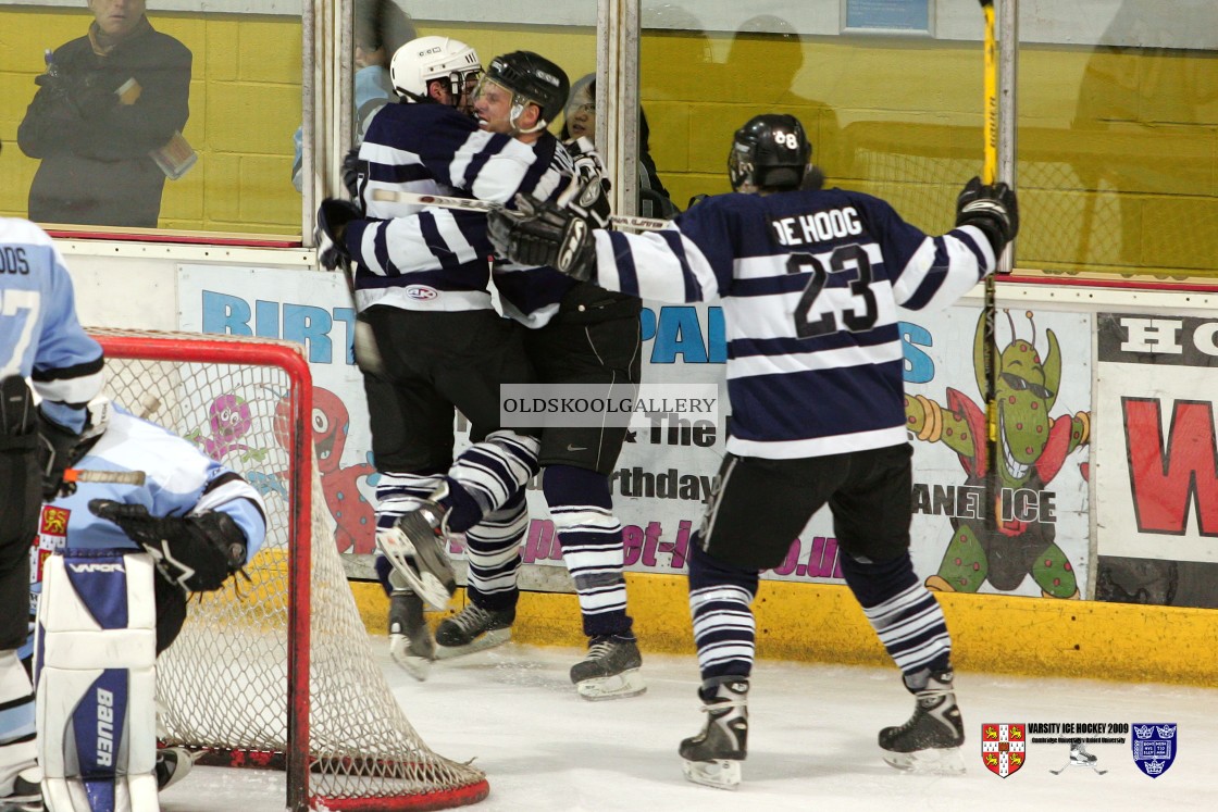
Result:
<instances>
[{"instance_id":1,"label":"yellow kickboard strip along the ice at base of boards","mask_svg":"<svg viewBox=\"0 0 1218 812\"><path fill-rule=\"evenodd\" d=\"M627 573L626 579L643 651L693 654L686 578ZM352 588L369 631L384 634L389 600L380 586ZM463 595L459 590L454 606ZM952 662L962 672L1218 687L1214 610L1005 595L938 599L952 635ZM892 665L843 586L762 581L753 607L759 659ZM524 593L513 639L585 645L575 595Z\"/></svg>"}]
</instances>

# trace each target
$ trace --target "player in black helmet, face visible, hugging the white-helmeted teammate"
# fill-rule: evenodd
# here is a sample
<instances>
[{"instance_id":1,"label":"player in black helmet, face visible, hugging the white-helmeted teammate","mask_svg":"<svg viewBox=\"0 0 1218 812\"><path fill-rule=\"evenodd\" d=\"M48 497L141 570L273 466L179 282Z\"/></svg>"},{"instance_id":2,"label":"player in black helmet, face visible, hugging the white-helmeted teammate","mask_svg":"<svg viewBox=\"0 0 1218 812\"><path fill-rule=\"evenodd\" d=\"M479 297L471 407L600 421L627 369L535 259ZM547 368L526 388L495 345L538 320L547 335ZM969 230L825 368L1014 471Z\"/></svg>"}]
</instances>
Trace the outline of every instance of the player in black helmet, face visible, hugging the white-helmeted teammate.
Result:
<instances>
[{"instance_id":1,"label":"player in black helmet, face visible, hugging the white-helmeted teammate","mask_svg":"<svg viewBox=\"0 0 1218 812\"><path fill-rule=\"evenodd\" d=\"M558 83L552 82L555 77ZM486 129L513 135L536 152L558 158L563 147L546 125L559 114L566 95L561 68L537 54L515 51L491 61L475 93L474 110ZM586 139L566 145L566 150L583 184L576 205L591 208L590 217L604 225L609 208L600 186L599 156ZM555 190L551 200L561 194ZM493 279L504 312L529 327L525 349L541 383L600 386L607 396L632 397L641 371L638 298L576 282L552 268L510 262L497 262ZM642 656L626 611L621 522L613 510L608 476L625 439L625 426L605 421L546 426L541 435L542 493L575 582L588 638L587 655L571 667L570 678L577 693L590 700L646 690L639 674ZM507 559L510 570L501 567L498 592L510 603L485 589L469 590L470 603L463 612L436 629L442 646L473 646L479 635L502 633L499 639L507 639L519 595L518 541L470 547L470 571L475 575L488 569L479 558Z\"/></svg>"}]
</instances>

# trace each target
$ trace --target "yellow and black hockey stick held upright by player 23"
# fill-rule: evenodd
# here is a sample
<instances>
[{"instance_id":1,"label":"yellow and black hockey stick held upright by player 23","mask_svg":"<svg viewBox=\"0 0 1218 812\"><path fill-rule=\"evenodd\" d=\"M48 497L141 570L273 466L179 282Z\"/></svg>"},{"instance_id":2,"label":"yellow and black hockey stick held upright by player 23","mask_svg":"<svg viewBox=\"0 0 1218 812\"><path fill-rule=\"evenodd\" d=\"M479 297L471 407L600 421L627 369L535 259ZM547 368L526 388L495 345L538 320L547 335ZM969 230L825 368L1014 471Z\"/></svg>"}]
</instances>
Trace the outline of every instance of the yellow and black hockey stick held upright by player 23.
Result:
<instances>
[{"instance_id":1,"label":"yellow and black hockey stick held upright by player 23","mask_svg":"<svg viewBox=\"0 0 1218 812\"><path fill-rule=\"evenodd\" d=\"M985 15L985 128L984 128L984 163L982 164L982 183L993 184L998 180L998 45L994 37L994 0L980 0L982 12ZM1000 262L994 258L995 265ZM985 373L985 450L989 465L985 469L985 485L989 491L989 510L987 522L989 527L996 528L1001 515L1001 487L1002 482L998 474L999 466L999 442L998 442L998 346L994 336L994 323L998 318L996 291L994 285L994 271L985 276L985 299L983 303L982 326L982 369Z\"/></svg>"}]
</instances>

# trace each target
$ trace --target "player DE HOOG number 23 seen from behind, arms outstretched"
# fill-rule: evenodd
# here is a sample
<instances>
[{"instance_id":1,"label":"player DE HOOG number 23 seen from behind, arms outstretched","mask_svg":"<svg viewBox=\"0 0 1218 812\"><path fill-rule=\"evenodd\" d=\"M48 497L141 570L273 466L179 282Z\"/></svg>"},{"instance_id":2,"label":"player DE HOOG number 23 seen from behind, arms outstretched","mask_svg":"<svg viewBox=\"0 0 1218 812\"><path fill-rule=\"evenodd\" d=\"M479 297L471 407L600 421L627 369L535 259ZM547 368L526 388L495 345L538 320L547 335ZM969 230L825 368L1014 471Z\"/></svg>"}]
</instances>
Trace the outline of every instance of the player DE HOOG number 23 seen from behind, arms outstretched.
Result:
<instances>
[{"instance_id":1,"label":"player DE HOOG number 23 seen from behind, arms outstretched","mask_svg":"<svg viewBox=\"0 0 1218 812\"><path fill-rule=\"evenodd\" d=\"M719 489L691 543L689 607L704 729L681 743L686 775L732 789L747 755L758 573L828 504L848 587L915 698L879 732L900 769L962 769L963 723L943 611L910 561L911 449L905 437L898 307L945 307L993 273L1018 231L1015 192L972 179L956 228L928 236L883 201L801 189L811 145L792 116L737 130L736 194L631 235L523 200L492 213L497 248L610 290L722 301L732 405ZM812 184L815 185L815 184ZM744 192L744 194L739 194Z\"/></svg>"}]
</instances>

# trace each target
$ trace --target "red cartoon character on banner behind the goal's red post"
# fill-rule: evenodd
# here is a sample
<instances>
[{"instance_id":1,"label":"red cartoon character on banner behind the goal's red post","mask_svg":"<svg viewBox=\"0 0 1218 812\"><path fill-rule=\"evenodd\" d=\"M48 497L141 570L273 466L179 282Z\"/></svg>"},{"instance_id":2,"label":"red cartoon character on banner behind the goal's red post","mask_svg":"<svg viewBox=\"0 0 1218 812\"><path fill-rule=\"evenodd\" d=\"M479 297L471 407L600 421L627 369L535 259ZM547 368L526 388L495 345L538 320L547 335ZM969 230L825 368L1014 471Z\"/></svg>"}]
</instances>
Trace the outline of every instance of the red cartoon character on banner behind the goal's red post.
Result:
<instances>
[{"instance_id":1,"label":"red cartoon character on banner behind the goal's red post","mask_svg":"<svg viewBox=\"0 0 1218 812\"><path fill-rule=\"evenodd\" d=\"M286 448L289 432L284 431L290 404L280 401L275 409L275 438ZM368 499L359 492L359 480L369 477L376 483L376 469L370 463L342 465L351 415L337 394L322 387L313 390L313 448L322 477L325 506L334 516L334 541L340 553L371 553L375 549L376 516Z\"/></svg>"}]
</instances>

